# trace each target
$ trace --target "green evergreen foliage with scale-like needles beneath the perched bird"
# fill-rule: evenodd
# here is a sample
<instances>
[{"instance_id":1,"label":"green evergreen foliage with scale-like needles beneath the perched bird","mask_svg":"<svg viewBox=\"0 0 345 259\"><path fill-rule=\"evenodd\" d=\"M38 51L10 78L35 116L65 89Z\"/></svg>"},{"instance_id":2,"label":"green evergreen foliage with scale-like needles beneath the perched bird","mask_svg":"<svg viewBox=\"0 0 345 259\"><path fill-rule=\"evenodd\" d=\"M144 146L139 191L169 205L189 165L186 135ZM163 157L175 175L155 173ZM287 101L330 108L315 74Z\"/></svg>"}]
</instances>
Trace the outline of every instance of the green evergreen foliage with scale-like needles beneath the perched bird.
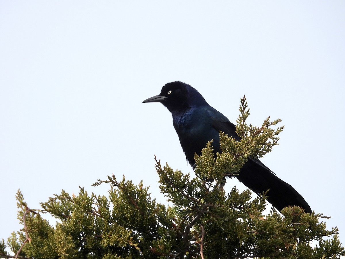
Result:
<instances>
[{"instance_id":1,"label":"green evergreen foliage with scale-like needles beneath the perched bird","mask_svg":"<svg viewBox=\"0 0 345 259\"><path fill-rule=\"evenodd\" d=\"M246 124L241 100L235 141L220 134L221 154L211 142L195 156L195 178L162 166L155 158L159 187L171 207L151 198L142 182L135 185L114 175L94 186L109 184L109 195L54 194L42 209L31 210L18 190L18 219L23 228L0 241L3 258L340 258L345 255L338 229L326 229L328 217L304 213L299 207L265 215L265 193L233 188L225 193L225 175L235 175L249 156L262 157L277 145L283 130L267 118L261 127ZM212 180L211 180L212 179ZM49 213L58 221L42 219ZM6 247L15 256L6 252Z\"/></svg>"}]
</instances>

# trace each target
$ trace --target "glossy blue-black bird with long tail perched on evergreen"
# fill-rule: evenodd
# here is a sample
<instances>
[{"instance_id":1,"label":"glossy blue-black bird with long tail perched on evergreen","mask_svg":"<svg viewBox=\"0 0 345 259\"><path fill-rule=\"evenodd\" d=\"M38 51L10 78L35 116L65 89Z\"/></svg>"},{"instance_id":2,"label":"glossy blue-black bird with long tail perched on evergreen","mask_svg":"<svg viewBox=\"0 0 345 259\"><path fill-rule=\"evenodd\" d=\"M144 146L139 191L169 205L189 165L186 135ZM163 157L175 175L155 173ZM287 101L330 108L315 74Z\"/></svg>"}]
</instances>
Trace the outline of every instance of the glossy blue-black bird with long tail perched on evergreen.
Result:
<instances>
[{"instance_id":1,"label":"glossy blue-black bird with long tail perched on evergreen","mask_svg":"<svg viewBox=\"0 0 345 259\"><path fill-rule=\"evenodd\" d=\"M206 143L213 140L215 154L221 152L219 132L239 141L236 126L223 114L211 107L204 97L192 86L175 81L163 86L159 95L144 100L143 103L158 102L172 114L177 135L190 165L195 164L194 154L201 154ZM287 206L302 207L312 213L308 203L291 185L280 180L260 160L248 158L236 175L237 179L249 189L260 195L268 191L268 201L279 211Z\"/></svg>"}]
</instances>

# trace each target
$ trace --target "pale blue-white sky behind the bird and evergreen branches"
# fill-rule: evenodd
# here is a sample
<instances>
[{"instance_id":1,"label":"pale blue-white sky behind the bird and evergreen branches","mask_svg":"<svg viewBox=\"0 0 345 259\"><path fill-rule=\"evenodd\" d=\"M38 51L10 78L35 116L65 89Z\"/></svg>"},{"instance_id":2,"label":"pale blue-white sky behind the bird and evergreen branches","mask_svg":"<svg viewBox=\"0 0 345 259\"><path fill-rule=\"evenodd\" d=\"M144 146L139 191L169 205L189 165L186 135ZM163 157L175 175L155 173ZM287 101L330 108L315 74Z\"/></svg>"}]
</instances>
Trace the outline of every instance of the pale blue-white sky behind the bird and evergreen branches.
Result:
<instances>
[{"instance_id":1,"label":"pale blue-white sky behind the bird and evergreen branches","mask_svg":"<svg viewBox=\"0 0 345 259\"><path fill-rule=\"evenodd\" d=\"M0 238L19 188L39 209L125 174L164 202L154 154L192 170L170 113L141 102L181 80L230 121L244 94L250 123L281 118L263 162L345 244L344 28L344 1L1 1Z\"/></svg>"}]
</instances>

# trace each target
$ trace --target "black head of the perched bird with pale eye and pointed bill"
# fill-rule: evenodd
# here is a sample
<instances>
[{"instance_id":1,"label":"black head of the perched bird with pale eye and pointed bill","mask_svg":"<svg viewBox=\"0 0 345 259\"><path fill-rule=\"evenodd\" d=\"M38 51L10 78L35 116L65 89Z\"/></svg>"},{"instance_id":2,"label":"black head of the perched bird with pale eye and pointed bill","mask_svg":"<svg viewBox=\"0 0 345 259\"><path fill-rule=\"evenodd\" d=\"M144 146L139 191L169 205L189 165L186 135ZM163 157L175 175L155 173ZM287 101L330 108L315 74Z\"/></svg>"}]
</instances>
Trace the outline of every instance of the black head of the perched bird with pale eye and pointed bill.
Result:
<instances>
[{"instance_id":1,"label":"black head of the perched bird with pale eye and pointed bill","mask_svg":"<svg viewBox=\"0 0 345 259\"><path fill-rule=\"evenodd\" d=\"M181 81L167 83L159 95L144 100L143 103L161 103L170 112L207 104L204 97L192 86Z\"/></svg>"}]
</instances>

